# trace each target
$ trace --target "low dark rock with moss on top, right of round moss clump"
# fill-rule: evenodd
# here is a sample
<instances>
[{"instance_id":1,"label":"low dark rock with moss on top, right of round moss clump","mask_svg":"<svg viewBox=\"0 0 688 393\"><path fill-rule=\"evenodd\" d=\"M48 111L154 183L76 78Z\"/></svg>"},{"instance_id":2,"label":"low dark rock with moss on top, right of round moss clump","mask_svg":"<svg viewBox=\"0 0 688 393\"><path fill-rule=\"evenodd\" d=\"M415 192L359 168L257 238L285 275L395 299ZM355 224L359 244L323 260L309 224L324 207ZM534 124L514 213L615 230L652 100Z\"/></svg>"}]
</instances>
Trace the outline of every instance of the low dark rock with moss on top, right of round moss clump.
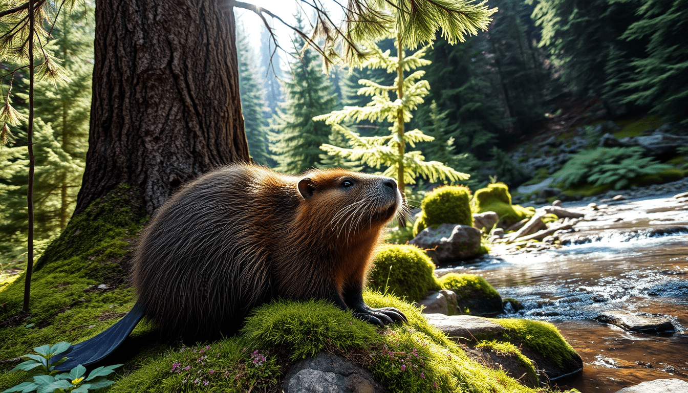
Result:
<instances>
[{"instance_id":1,"label":"low dark rock with moss on top, right of round moss clump","mask_svg":"<svg viewBox=\"0 0 688 393\"><path fill-rule=\"evenodd\" d=\"M449 273L438 280L442 288L456 294L459 312L470 315L496 315L502 312L502 297L479 275Z\"/></svg>"}]
</instances>

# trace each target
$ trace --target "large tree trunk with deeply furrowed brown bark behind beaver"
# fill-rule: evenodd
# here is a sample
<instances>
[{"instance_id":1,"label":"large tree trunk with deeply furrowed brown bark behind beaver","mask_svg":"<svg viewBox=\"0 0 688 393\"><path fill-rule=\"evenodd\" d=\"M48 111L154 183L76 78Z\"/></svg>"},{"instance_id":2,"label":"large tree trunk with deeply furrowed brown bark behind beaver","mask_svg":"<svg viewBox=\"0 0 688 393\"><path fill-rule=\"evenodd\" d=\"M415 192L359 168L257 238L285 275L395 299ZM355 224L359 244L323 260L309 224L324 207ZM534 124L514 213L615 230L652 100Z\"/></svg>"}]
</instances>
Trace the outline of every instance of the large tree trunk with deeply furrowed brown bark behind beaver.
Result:
<instances>
[{"instance_id":1,"label":"large tree trunk with deeply furrowed brown bark behind beaver","mask_svg":"<svg viewBox=\"0 0 688 393\"><path fill-rule=\"evenodd\" d=\"M89 150L78 214L118 184L152 213L183 182L248 161L230 1L96 3Z\"/></svg>"}]
</instances>

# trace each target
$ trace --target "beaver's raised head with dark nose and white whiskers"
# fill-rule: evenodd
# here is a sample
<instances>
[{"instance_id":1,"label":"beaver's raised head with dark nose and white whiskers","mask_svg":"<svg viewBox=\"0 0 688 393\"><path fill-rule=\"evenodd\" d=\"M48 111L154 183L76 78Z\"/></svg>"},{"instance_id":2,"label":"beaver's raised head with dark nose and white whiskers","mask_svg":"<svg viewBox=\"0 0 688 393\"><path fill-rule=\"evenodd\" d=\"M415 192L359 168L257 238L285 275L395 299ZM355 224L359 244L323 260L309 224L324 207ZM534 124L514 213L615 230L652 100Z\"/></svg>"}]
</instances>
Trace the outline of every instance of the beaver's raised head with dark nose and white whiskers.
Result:
<instances>
[{"instance_id":1,"label":"beaver's raised head with dark nose and white whiskers","mask_svg":"<svg viewBox=\"0 0 688 393\"><path fill-rule=\"evenodd\" d=\"M343 169L308 171L297 189L303 198L299 218L337 237L379 232L405 204L394 179Z\"/></svg>"}]
</instances>

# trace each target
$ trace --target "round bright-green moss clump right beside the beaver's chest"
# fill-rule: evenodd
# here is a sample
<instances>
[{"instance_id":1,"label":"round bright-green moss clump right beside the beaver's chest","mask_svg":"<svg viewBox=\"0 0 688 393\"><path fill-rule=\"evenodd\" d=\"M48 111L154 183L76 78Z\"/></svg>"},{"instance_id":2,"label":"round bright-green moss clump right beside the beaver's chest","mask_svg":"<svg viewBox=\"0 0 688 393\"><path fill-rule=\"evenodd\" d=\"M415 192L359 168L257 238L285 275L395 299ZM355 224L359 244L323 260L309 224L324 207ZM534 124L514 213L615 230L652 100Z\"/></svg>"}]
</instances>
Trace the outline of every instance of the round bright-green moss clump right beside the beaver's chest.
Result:
<instances>
[{"instance_id":1,"label":"round bright-green moss clump right beside the beaver's chest","mask_svg":"<svg viewBox=\"0 0 688 393\"><path fill-rule=\"evenodd\" d=\"M416 246L385 244L368 274L368 288L420 301L429 290L439 290L435 264Z\"/></svg>"}]
</instances>

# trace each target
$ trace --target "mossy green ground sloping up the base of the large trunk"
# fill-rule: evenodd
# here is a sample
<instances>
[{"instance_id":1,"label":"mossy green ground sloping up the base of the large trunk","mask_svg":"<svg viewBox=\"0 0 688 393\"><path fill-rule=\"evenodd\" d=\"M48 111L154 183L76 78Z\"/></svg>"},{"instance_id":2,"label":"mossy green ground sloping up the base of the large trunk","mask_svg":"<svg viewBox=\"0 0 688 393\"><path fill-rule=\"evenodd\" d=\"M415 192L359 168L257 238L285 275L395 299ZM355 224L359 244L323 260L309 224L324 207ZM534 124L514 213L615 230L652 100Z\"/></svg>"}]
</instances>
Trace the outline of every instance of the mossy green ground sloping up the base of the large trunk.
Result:
<instances>
[{"instance_id":1,"label":"mossy green ground sloping up the base of the large trunk","mask_svg":"<svg viewBox=\"0 0 688 393\"><path fill-rule=\"evenodd\" d=\"M141 205L133 195L128 187L111 191L73 217L46 248L34 270L28 317L20 312L24 275L0 289L0 360L46 343L82 341L131 308L126 261L142 227ZM8 387L6 381L0 380L0 390Z\"/></svg>"}]
</instances>

